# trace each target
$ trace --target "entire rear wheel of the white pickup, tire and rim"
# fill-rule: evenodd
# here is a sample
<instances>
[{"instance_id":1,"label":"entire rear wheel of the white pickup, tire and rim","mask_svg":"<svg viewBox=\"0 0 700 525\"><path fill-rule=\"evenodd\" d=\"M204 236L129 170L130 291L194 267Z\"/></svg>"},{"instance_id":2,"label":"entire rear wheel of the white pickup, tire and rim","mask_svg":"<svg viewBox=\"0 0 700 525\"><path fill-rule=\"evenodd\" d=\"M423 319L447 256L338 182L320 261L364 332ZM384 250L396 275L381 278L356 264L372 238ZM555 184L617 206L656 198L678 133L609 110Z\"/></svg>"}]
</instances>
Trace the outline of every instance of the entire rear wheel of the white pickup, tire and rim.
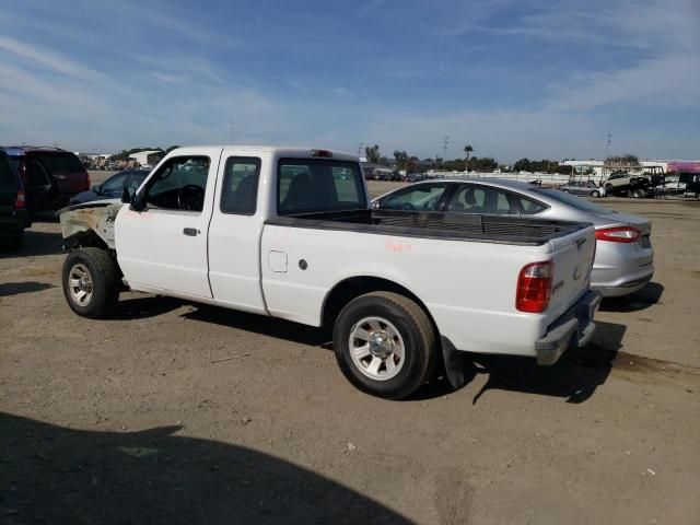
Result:
<instances>
[{"instance_id":1,"label":"entire rear wheel of the white pickup, tire and rim","mask_svg":"<svg viewBox=\"0 0 700 525\"><path fill-rule=\"evenodd\" d=\"M354 299L334 329L336 359L345 376L361 390L386 399L406 397L425 383L435 346L425 312L392 292Z\"/></svg>"}]
</instances>

